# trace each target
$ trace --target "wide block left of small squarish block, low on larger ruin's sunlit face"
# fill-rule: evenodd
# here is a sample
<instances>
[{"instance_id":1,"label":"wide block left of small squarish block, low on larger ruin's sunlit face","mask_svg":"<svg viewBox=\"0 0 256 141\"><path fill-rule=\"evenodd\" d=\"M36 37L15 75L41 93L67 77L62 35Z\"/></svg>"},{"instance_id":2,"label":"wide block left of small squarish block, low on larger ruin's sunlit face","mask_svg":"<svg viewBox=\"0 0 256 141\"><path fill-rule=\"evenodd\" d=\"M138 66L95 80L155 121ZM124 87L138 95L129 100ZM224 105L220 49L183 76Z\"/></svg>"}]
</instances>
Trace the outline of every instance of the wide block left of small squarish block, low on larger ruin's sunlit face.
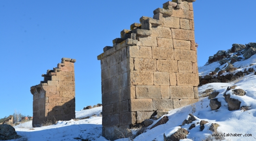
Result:
<instances>
[{"instance_id":1,"label":"wide block left of small squarish block, low on larger ruin's sunlit face","mask_svg":"<svg viewBox=\"0 0 256 141\"><path fill-rule=\"evenodd\" d=\"M153 99L153 110L172 110L173 99Z\"/></svg>"}]
</instances>

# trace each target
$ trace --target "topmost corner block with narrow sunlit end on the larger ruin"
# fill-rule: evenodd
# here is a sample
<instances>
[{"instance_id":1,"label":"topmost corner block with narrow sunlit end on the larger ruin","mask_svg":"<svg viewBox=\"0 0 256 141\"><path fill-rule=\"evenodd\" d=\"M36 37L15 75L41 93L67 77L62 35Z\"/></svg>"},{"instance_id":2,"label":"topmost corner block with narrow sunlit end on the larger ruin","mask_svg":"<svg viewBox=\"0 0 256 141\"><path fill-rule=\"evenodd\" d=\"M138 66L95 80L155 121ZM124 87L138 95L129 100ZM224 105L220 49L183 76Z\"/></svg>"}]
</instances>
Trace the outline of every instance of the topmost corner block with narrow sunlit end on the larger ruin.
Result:
<instances>
[{"instance_id":1,"label":"topmost corner block with narrow sunlit end on the larger ruin","mask_svg":"<svg viewBox=\"0 0 256 141\"><path fill-rule=\"evenodd\" d=\"M124 72L132 71L134 70L134 59L133 58L127 58L124 61L121 61L119 63L119 74L123 74Z\"/></svg>"}]
</instances>

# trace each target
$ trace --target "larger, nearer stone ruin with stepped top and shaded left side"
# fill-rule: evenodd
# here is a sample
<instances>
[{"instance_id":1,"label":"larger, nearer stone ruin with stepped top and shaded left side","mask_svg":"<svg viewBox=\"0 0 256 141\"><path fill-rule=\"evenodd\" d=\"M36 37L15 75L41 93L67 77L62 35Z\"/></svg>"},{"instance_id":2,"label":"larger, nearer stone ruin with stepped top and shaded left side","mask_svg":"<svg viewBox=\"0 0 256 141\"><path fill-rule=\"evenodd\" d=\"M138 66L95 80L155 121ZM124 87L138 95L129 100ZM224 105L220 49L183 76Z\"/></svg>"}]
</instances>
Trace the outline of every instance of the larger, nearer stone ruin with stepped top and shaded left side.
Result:
<instances>
[{"instance_id":1,"label":"larger, nearer stone ruin with stepped top and shaded left side","mask_svg":"<svg viewBox=\"0 0 256 141\"><path fill-rule=\"evenodd\" d=\"M141 17L98 56L102 79L102 136L118 139L149 119L198 101L195 0L166 2Z\"/></svg>"}]
</instances>

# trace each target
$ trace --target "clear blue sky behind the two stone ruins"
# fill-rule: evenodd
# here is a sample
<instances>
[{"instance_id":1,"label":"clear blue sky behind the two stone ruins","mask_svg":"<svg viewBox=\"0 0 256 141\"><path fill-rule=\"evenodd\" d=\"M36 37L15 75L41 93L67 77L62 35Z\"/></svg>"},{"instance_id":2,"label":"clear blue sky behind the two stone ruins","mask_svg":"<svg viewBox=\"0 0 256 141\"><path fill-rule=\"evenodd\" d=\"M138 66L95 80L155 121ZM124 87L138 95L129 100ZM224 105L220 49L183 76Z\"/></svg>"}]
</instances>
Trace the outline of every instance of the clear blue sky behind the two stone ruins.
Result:
<instances>
[{"instance_id":1,"label":"clear blue sky behind the two stone ruins","mask_svg":"<svg viewBox=\"0 0 256 141\"><path fill-rule=\"evenodd\" d=\"M100 61L120 31L167 0L0 0L0 118L33 115L30 87L61 58L74 58L76 110L101 103ZM197 0L198 65L233 43L256 42L256 0Z\"/></svg>"}]
</instances>

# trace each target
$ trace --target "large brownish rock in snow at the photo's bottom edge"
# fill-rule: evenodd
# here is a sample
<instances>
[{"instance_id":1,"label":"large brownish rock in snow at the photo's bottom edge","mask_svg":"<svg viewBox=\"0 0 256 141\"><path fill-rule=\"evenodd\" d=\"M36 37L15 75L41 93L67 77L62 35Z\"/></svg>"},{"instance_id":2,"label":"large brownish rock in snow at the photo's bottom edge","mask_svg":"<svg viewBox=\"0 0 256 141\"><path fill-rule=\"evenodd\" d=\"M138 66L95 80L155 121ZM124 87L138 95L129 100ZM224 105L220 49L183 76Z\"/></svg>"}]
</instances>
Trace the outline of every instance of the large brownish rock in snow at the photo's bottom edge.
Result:
<instances>
[{"instance_id":1,"label":"large brownish rock in snow at the photo's bottom edge","mask_svg":"<svg viewBox=\"0 0 256 141\"><path fill-rule=\"evenodd\" d=\"M186 129L179 128L178 131L176 131L170 137L166 137L165 134L163 134L163 140L164 141L180 141L180 139L186 139L188 133L189 132Z\"/></svg>"}]
</instances>

